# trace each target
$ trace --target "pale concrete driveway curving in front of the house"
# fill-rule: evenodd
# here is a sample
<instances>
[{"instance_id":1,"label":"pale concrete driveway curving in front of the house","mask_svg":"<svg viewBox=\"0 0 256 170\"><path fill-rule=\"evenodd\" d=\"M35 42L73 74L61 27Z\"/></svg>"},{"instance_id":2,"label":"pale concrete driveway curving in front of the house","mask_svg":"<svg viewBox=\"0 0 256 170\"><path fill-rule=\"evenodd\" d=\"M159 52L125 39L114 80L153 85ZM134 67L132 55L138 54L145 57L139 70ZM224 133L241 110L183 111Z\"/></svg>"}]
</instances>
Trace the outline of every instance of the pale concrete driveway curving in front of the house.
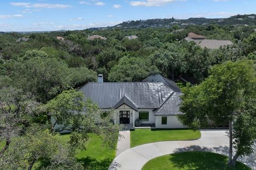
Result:
<instances>
[{"instance_id":1,"label":"pale concrete driveway curving in front of the house","mask_svg":"<svg viewBox=\"0 0 256 170\"><path fill-rule=\"evenodd\" d=\"M191 141L165 141L148 143L125 150L110 165L111 170L140 170L150 159L181 151L210 151L228 155L229 138L225 130L201 131L201 138ZM256 151L256 150L255 150ZM238 158L241 162L256 169L256 154Z\"/></svg>"}]
</instances>

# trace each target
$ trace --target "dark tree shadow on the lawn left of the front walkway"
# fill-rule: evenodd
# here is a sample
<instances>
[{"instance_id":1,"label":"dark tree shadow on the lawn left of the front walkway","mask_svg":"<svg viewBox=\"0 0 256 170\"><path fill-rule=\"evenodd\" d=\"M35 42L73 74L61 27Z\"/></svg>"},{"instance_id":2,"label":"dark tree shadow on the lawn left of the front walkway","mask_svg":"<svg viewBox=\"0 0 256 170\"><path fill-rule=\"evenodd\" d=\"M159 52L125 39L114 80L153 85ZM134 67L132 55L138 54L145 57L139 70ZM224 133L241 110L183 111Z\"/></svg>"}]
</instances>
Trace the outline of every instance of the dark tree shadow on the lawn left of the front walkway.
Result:
<instances>
[{"instance_id":1,"label":"dark tree shadow on the lawn left of the front walkway","mask_svg":"<svg viewBox=\"0 0 256 170\"><path fill-rule=\"evenodd\" d=\"M91 157L85 157L85 158L77 159L77 161L83 164L84 169L90 169L90 170L106 169L107 170L113 160L106 158L99 161Z\"/></svg>"}]
</instances>

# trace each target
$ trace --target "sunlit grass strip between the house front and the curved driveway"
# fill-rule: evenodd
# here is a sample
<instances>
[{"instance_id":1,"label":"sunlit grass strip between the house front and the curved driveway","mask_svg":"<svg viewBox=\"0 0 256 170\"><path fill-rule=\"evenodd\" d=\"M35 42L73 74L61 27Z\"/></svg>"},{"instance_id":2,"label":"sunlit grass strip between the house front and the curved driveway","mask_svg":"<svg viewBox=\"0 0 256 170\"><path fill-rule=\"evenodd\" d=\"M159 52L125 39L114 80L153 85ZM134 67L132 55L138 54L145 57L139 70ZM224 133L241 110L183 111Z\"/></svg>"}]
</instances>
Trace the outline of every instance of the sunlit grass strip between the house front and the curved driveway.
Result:
<instances>
[{"instance_id":1,"label":"sunlit grass strip between the house front and the curved driveway","mask_svg":"<svg viewBox=\"0 0 256 170\"><path fill-rule=\"evenodd\" d=\"M200 137L200 131L193 130L135 129L131 131L131 147L159 141L195 140Z\"/></svg>"}]
</instances>

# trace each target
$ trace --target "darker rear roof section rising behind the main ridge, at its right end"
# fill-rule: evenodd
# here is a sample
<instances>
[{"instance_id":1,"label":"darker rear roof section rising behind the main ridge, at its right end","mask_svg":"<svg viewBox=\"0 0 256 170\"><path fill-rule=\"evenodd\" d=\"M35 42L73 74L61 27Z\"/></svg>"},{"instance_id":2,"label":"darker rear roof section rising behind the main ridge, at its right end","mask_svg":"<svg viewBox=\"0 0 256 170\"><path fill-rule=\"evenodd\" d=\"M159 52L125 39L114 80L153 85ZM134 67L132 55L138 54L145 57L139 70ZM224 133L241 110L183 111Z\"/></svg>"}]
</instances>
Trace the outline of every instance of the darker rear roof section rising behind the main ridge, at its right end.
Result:
<instances>
[{"instance_id":1,"label":"darker rear roof section rising behind the main ridge, at its right end","mask_svg":"<svg viewBox=\"0 0 256 170\"><path fill-rule=\"evenodd\" d=\"M170 87L175 92L180 92L179 86L172 80L163 77L161 74L152 74L142 82L163 82L166 86Z\"/></svg>"}]
</instances>

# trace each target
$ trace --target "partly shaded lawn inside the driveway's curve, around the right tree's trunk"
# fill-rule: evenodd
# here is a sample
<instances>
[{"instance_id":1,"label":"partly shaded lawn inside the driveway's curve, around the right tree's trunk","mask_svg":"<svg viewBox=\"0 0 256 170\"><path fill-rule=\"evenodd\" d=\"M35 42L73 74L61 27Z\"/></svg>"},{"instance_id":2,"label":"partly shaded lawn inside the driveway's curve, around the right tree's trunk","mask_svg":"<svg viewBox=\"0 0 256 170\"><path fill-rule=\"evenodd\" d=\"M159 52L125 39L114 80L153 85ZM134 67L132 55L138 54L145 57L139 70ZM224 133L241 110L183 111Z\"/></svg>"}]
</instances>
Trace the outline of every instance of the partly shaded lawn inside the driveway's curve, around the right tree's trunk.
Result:
<instances>
[{"instance_id":1,"label":"partly shaded lawn inside the driveway's curve, around the right tree's trunk","mask_svg":"<svg viewBox=\"0 0 256 170\"><path fill-rule=\"evenodd\" d=\"M227 165L228 158L211 152L180 152L157 157L147 162L142 170L247 170L248 166L237 162L235 167Z\"/></svg>"}]
</instances>

